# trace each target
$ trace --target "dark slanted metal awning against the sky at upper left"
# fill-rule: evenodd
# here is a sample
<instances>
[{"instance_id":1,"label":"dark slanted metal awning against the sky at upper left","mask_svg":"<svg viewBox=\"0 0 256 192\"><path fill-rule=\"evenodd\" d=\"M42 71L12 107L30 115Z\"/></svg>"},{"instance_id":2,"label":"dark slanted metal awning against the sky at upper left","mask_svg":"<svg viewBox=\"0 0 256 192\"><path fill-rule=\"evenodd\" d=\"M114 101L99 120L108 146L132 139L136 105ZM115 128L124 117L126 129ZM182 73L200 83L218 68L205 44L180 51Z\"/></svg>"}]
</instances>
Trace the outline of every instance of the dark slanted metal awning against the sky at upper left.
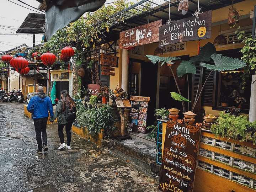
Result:
<instances>
[{"instance_id":1,"label":"dark slanted metal awning against the sky at upper left","mask_svg":"<svg viewBox=\"0 0 256 192\"><path fill-rule=\"evenodd\" d=\"M16 33L44 34L44 14L29 13Z\"/></svg>"}]
</instances>

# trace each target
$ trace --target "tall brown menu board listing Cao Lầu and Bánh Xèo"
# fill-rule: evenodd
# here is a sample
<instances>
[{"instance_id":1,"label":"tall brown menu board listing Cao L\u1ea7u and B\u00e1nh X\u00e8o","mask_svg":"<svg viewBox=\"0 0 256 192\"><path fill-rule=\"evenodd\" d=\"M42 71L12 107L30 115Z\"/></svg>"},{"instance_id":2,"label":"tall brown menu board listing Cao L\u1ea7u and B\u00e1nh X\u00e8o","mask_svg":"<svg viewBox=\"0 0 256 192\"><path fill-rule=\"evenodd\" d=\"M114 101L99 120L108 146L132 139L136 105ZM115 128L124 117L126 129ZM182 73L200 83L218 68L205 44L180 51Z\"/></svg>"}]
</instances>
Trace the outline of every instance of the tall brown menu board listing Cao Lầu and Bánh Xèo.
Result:
<instances>
[{"instance_id":1,"label":"tall brown menu board listing Cao L\u1ea7u and B\u00e1nh X\u00e8o","mask_svg":"<svg viewBox=\"0 0 256 192\"><path fill-rule=\"evenodd\" d=\"M192 192L201 128L167 122L159 190Z\"/></svg>"}]
</instances>

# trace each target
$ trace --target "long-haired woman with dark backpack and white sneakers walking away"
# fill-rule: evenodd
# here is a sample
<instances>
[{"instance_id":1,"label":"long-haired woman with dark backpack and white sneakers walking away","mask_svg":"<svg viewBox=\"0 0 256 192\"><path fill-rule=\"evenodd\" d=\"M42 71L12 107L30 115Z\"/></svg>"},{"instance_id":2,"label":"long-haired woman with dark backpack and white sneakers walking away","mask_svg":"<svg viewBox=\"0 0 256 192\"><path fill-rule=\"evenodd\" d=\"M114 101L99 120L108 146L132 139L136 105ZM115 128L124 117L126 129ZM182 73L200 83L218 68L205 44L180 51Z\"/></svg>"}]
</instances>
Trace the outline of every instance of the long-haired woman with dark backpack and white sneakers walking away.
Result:
<instances>
[{"instance_id":1,"label":"long-haired woman with dark backpack and white sneakers walking away","mask_svg":"<svg viewBox=\"0 0 256 192\"><path fill-rule=\"evenodd\" d=\"M68 91L63 90L60 92L61 100L59 100L57 104L56 111L54 113L52 121L54 121L58 117L58 134L60 138L61 145L58 149L62 149L66 147L67 149L70 149L70 142L71 142L71 127L72 123L74 122L76 118L76 108L75 108L75 102L73 99L69 96ZM64 134L63 134L63 128L65 126L66 129L66 137L67 137L67 145L64 142Z\"/></svg>"}]
</instances>

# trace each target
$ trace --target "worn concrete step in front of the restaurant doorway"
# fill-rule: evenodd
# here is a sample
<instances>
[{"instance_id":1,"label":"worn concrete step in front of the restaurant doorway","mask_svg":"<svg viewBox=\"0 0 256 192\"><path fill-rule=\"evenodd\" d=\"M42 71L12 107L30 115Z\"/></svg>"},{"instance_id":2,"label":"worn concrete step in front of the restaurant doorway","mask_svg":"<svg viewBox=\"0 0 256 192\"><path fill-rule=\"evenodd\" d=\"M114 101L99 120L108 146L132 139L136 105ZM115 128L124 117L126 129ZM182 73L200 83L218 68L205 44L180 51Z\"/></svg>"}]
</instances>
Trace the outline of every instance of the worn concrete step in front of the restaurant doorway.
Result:
<instances>
[{"instance_id":1,"label":"worn concrete step in front of the restaurant doorway","mask_svg":"<svg viewBox=\"0 0 256 192\"><path fill-rule=\"evenodd\" d=\"M127 139L122 141L114 140L113 147L148 165L156 161L156 144L151 145L138 139Z\"/></svg>"}]
</instances>

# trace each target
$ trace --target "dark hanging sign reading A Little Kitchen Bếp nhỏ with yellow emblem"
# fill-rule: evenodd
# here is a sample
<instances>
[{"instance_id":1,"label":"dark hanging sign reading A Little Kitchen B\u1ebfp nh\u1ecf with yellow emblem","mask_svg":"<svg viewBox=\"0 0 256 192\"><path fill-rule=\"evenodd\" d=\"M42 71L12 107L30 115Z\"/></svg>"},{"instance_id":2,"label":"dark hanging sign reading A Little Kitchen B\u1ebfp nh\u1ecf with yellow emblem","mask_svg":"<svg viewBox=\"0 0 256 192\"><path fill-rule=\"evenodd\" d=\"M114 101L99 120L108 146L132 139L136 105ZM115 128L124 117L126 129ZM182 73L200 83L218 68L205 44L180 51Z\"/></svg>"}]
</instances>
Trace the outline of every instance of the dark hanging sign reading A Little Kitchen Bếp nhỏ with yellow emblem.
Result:
<instances>
[{"instance_id":1,"label":"dark hanging sign reading A Little Kitchen B\u1ebfp nh\u1ecf with yellow emblem","mask_svg":"<svg viewBox=\"0 0 256 192\"><path fill-rule=\"evenodd\" d=\"M212 10L199 14L199 18L188 17L164 24L159 28L159 47L185 41L208 39L212 32Z\"/></svg>"}]
</instances>

